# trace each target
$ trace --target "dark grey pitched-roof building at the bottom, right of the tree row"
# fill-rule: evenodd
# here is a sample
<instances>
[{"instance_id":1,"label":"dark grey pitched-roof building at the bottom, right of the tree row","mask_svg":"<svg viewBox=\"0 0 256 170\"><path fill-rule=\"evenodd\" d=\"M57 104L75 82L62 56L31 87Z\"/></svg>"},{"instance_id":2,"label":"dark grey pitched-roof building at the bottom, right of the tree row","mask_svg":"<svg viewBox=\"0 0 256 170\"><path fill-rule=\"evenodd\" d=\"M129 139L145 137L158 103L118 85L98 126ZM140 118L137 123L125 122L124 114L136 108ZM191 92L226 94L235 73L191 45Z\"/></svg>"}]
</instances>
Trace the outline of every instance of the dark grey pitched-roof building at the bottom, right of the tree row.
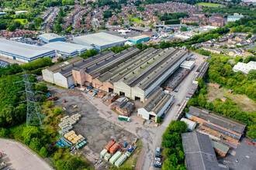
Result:
<instances>
[{"instance_id":1,"label":"dark grey pitched-roof building at the bottom, right of the tree row","mask_svg":"<svg viewBox=\"0 0 256 170\"><path fill-rule=\"evenodd\" d=\"M224 170L227 165L217 162L209 136L198 132L182 134L182 144L185 152L185 165L188 170Z\"/></svg>"}]
</instances>

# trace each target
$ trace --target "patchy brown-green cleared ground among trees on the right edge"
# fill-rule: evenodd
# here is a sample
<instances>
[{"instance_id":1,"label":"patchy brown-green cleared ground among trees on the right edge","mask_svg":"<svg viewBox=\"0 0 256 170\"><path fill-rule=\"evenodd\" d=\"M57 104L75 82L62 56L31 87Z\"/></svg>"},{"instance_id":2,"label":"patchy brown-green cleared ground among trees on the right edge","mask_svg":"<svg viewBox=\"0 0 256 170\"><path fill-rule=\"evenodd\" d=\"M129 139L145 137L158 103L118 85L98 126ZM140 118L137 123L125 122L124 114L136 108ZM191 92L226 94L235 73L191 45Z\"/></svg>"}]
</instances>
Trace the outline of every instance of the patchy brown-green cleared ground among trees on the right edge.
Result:
<instances>
[{"instance_id":1,"label":"patchy brown-green cleared ground among trees on the right edge","mask_svg":"<svg viewBox=\"0 0 256 170\"><path fill-rule=\"evenodd\" d=\"M207 93L208 101L213 101L216 98L221 98L221 97L229 97L231 100L234 100L234 102L243 111L252 112L256 108L256 104L254 103L254 101L248 98L245 94L241 95L241 94L227 93L227 89L223 87L220 89L208 87L207 89L209 90L209 92Z\"/></svg>"}]
</instances>

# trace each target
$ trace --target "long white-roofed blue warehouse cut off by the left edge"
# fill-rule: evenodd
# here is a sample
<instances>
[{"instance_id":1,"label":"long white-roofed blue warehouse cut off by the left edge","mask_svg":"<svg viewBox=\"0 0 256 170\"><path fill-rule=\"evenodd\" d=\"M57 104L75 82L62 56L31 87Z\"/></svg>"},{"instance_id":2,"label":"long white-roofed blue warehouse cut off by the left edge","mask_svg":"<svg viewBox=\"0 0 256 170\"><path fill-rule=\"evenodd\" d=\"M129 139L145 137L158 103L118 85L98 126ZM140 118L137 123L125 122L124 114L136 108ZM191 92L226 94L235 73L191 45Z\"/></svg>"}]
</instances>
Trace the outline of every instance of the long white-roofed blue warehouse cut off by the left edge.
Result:
<instances>
[{"instance_id":1,"label":"long white-roofed blue warehouse cut off by the left edge","mask_svg":"<svg viewBox=\"0 0 256 170\"><path fill-rule=\"evenodd\" d=\"M9 59L16 59L24 63L29 63L30 61L47 56L52 58L55 55L56 53L54 49L0 39L0 56L5 56Z\"/></svg>"}]
</instances>

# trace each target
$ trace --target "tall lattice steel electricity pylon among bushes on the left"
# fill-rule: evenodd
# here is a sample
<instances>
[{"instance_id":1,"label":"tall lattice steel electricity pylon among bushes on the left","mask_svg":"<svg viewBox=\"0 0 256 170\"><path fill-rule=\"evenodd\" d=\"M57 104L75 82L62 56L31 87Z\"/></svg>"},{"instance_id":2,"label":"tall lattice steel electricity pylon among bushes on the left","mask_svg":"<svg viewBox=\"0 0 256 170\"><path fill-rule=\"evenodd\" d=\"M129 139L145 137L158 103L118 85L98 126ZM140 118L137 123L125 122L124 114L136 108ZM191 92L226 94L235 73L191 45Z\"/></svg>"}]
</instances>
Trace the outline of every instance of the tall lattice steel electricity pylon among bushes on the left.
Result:
<instances>
[{"instance_id":1,"label":"tall lattice steel electricity pylon among bushes on the left","mask_svg":"<svg viewBox=\"0 0 256 170\"><path fill-rule=\"evenodd\" d=\"M42 107L36 100L35 92L32 89L34 83L29 82L29 76L31 74L24 73L23 80L16 83L24 83L25 90L20 91L19 93L26 92L26 126L40 126L43 128L43 119L45 114Z\"/></svg>"}]
</instances>

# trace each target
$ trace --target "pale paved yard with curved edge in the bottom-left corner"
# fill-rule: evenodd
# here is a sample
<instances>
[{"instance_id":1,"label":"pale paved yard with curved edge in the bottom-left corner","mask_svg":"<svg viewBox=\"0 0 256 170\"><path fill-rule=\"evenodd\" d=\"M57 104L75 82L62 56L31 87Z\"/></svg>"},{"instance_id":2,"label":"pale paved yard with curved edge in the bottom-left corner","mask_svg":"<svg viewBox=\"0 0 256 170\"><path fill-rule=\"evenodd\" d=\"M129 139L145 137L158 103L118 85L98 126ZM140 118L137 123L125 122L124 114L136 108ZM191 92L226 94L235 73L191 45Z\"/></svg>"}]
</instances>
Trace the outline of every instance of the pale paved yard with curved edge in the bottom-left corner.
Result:
<instances>
[{"instance_id":1,"label":"pale paved yard with curved edge in the bottom-left corner","mask_svg":"<svg viewBox=\"0 0 256 170\"><path fill-rule=\"evenodd\" d=\"M43 162L36 154L17 141L0 139L0 151L3 157L0 162L6 162L7 167L15 170L47 170L52 169L46 162Z\"/></svg>"}]
</instances>

